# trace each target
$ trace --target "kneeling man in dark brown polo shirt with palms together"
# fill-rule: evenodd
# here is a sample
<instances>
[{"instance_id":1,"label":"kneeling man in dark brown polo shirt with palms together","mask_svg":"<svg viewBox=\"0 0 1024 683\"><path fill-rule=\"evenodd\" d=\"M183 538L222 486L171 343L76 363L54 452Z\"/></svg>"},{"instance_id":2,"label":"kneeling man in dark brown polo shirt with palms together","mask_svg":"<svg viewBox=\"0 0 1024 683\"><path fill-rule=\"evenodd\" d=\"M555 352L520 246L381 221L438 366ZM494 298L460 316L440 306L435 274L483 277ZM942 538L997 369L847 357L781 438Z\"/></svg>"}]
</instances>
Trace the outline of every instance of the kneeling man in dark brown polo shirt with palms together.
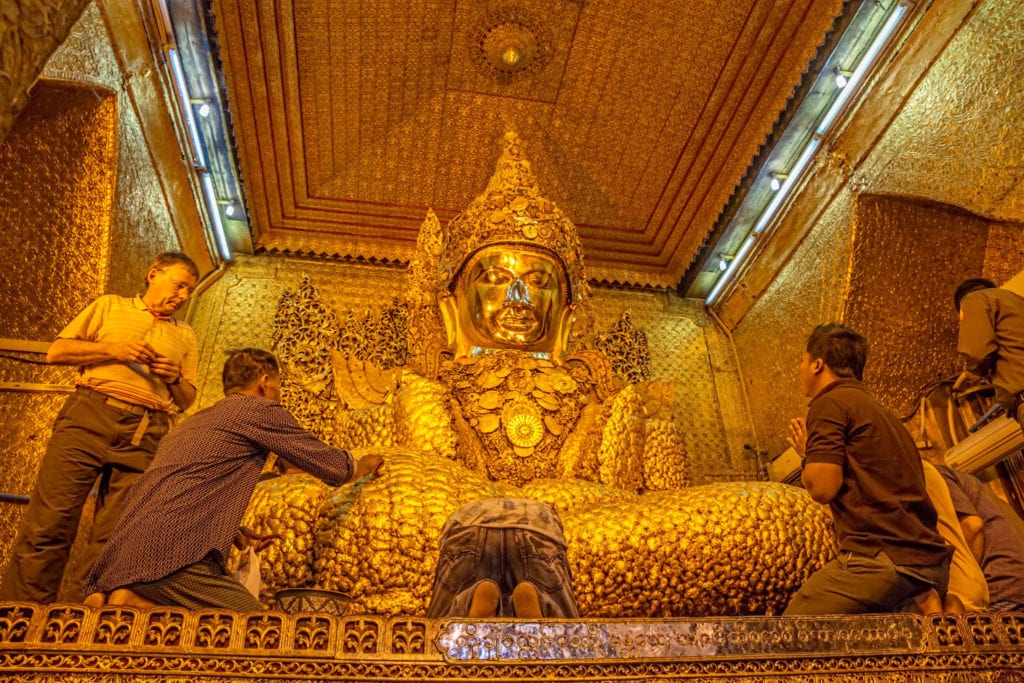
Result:
<instances>
[{"instance_id":1,"label":"kneeling man in dark brown polo shirt with palms together","mask_svg":"<svg viewBox=\"0 0 1024 683\"><path fill-rule=\"evenodd\" d=\"M886 612L946 592L950 550L936 529L918 449L864 390L866 358L867 341L841 325L818 326L801 357L801 388L811 398L801 479L828 505L840 553L793 596L786 615Z\"/></svg>"}]
</instances>

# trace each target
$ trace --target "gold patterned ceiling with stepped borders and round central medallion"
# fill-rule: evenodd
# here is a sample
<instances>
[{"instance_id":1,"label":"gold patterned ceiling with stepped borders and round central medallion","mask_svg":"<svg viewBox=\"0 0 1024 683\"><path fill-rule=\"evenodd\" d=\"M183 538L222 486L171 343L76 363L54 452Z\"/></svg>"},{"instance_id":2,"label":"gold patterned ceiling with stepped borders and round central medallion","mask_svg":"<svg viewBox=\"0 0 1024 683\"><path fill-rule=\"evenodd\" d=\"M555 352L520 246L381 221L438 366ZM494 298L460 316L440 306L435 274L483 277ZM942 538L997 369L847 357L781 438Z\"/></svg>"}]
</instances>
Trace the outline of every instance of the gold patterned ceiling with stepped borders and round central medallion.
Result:
<instances>
[{"instance_id":1,"label":"gold patterned ceiling with stepped borders and round central medallion","mask_svg":"<svg viewBox=\"0 0 1024 683\"><path fill-rule=\"evenodd\" d=\"M674 286L842 0L214 0L258 248L384 261L508 129L598 281Z\"/></svg>"}]
</instances>

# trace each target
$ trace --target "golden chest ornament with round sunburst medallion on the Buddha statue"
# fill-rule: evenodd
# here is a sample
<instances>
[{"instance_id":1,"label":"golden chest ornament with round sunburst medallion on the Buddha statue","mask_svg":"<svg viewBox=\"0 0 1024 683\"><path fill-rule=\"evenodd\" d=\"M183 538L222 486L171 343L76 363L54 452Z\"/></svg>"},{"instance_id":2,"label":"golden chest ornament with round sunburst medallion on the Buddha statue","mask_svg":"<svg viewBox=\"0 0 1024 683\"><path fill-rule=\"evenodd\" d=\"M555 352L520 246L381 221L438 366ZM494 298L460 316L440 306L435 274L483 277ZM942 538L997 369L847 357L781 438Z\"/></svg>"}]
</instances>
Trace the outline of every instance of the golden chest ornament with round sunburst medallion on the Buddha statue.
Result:
<instances>
[{"instance_id":1,"label":"golden chest ornament with round sunburst medallion on the Buddha statue","mask_svg":"<svg viewBox=\"0 0 1024 683\"><path fill-rule=\"evenodd\" d=\"M558 476L561 446L594 391L586 366L506 350L445 364L441 377L490 478L522 485Z\"/></svg>"}]
</instances>

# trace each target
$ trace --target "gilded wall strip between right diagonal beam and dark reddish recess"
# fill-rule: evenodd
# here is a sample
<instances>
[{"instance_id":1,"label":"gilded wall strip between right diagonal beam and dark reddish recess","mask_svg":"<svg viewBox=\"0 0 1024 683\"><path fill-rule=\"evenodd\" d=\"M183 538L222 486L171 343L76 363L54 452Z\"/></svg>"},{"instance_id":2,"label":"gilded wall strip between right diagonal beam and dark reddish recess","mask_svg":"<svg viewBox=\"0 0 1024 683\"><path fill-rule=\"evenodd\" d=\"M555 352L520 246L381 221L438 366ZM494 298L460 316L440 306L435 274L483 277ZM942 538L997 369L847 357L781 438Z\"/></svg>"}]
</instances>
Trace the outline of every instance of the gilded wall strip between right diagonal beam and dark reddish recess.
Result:
<instances>
[{"instance_id":1,"label":"gilded wall strip between right diagonal beam and dark reddish recess","mask_svg":"<svg viewBox=\"0 0 1024 683\"><path fill-rule=\"evenodd\" d=\"M807 412L797 367L807 336L842 322L855 239L854 201L841 194L734 331L754 425L770 456L785 449L791 418Z\"/></svg>"}]
</instances>

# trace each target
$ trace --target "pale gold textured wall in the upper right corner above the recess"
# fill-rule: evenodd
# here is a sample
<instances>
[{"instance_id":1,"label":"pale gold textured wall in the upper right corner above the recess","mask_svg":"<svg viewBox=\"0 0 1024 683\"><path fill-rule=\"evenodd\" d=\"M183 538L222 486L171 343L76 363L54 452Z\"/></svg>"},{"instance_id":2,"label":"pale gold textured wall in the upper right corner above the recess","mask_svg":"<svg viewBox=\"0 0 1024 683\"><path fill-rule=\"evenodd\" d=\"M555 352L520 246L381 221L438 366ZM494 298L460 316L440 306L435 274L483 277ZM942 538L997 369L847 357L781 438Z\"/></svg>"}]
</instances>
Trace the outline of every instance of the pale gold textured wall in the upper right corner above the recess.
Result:
<instances>
[{"instance_id":1,"label":"pale gold textured wall in the upper right corner above the recess","mask_svg":"<svg viewBox=\"0 0 1024 683\"><path fill-rule=\"evenodd\" d=\"M977 3L858 173L862 186L1024 220L1022 36L1019 0Z\"/></svg>"}]
</instances>

